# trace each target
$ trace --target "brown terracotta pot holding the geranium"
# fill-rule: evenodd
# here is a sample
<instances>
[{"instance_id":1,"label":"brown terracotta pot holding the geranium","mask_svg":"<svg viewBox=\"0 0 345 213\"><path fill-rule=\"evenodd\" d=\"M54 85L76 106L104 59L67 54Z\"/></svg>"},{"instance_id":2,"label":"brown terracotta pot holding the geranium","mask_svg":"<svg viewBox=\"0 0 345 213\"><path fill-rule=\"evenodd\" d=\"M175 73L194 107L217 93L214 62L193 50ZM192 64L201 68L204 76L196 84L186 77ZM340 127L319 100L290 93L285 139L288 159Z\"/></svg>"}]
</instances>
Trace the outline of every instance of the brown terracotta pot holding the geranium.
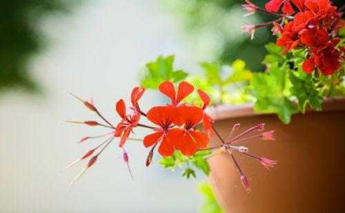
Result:
<instances>
[{"instance_id":1,"label":"brown terracotta pot holding the geranium","mask_svg":"<svg viewBox=\"0 0 345 213\"><path fill-rule=\"evenodd\" d=\"M293 115L288 125L277 115L255 114L252 104L217 106L212 116L224 138L237 122L241 130L259 123L275 129L275 141L242 143L250 153L277 160L273 170L235 153L250 192L239 181L230 155L209 160L209 179L226 212L345 212L345 98L326 100L323 111ZM217 137L211 140L219 144Z\"/></svg>"}]
</instances>

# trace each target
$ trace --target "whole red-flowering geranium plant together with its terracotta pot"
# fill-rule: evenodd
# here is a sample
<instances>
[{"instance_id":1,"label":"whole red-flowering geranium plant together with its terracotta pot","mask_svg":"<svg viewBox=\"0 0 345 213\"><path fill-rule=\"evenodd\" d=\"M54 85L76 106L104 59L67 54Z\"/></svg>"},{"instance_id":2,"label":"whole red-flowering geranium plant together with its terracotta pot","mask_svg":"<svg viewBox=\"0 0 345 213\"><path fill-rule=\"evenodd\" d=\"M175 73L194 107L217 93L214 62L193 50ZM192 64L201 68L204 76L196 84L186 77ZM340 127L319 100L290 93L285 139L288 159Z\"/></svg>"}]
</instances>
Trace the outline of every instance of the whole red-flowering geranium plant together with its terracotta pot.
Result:
<instances>
[{"instance_id":1,"label":"whole red-flowering geranium plant together with its terracotta pot","mask_svg":"<svg viewBox=\"0 0 345 213\"><path fill-rule=\"evenodd\" d=\"M266 70L254 73L244 61L235 60L201 63L204 74L188 75L174 69L174 56L160 56L146 65L141 87L132 91L129 111L124 100L117 102L122 121L116 125L91 101L78 98L103 122L77 123L111 131L95 136L108 139L70 165L90 157L75 181L115 141L124 150L130 172L124 147L128 140L140 140L150 148L146 166L157 150L164 168L184 166L187 178L196 177L195 168L209 175L215 197L226 212L344 210L345 168L339 164L345 150L342 9L327 0L271 0L266 8L246 1L244 9L277 18L243 27L252 38L255 30L267 26L273 26L273 34L279 36L276 44L266 45ZM146 89L158 89L171 102L142 111L139 100ZM277 142L260 141L275 139L273 131L264 131L264 123L275 130ZM148 134L132 138L135 128L146 128ZM80 142L95 137L83 137ZM277 161L253 153L277 159L279 166L263 172L262 165L270 169Z\"/></svg>"}]
</instances>

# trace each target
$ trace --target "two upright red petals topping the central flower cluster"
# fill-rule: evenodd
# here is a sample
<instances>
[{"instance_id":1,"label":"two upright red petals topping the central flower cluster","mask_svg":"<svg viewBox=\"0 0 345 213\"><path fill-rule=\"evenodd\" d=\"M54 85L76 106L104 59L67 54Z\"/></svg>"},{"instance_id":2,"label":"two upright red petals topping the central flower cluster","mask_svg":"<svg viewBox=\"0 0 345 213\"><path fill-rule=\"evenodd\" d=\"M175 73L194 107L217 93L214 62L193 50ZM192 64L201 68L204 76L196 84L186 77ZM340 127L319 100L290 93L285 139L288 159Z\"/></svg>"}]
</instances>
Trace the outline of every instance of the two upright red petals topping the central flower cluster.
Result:
<instances>
[{"instance_id":1,"label":"two upright red petals topping the central flower cluster","mask_svg":"<svg viewBox=\"0 0 345 213\"><path fill-rule=\"evenodd\" d=\"M188 82L182 81L179 83L179 89L176 94L175 87L172 85L172 82L166 81L159 85L159 91L171 99L171 104L173 106L179 106L179 102L192 93L194 91L194 87L193 85L188 84Z\"/></svg>"}]
</instances>

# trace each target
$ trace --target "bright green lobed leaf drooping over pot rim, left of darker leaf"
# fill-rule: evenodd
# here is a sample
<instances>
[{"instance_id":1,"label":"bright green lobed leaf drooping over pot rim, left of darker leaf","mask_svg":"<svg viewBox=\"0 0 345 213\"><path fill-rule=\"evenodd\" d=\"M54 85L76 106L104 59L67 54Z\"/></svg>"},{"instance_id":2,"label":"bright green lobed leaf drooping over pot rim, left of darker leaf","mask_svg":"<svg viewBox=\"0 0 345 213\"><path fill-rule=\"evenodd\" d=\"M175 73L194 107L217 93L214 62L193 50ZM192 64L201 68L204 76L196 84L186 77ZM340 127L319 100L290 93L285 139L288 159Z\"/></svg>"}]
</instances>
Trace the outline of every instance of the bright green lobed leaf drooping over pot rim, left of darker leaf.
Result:
<instances>
[{"instance_id":1,"label":"bright green lobed leaf drooping over pot rim, left of darker leaf","mask_svg":"<svg viewBox=\"0 0 345 213\"><path fill-rule=\"evenodd\" d=\"M277 63L270 65L268 74L255 74L250 81L250 93L257 98L254 110L257 113L277 113L282 122L288 124L291 115L297 113L297 107L286 96L288 78L286 63L281 67Z\"/></svg>"}]
</instances>

